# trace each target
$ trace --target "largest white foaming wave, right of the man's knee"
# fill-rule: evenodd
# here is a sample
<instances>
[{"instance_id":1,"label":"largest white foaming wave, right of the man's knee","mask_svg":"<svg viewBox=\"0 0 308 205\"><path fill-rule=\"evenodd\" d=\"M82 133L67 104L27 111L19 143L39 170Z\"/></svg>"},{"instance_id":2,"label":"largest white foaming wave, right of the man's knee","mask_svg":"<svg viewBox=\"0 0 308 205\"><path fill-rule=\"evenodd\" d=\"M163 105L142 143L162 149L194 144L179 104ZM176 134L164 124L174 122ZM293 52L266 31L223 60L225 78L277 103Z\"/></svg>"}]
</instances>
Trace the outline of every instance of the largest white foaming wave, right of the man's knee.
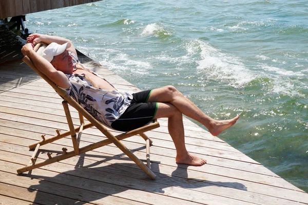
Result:
<instances>
[{"instance_id":1,"label":"largest white foaming wave, right of the man's knee","mask_svg":"<svg viewBox=\"0 0 308 205\"><path fill-rule=\"evenodd\" d=\"M285 70L267 66L247 67L240 57L223 51L203 42L200 39L191 40L186 45L187 55L181 60L188 58L197 63L197 72L201 84L209 81L219 81L234 88L254 87L255 90L291 97L303 97L300 92L304 84L296 78L304 77L303 72ZM195 56L195 57L193 57ZM267 59L266 56L259 56Z\"/></svg>"}]
</instances>

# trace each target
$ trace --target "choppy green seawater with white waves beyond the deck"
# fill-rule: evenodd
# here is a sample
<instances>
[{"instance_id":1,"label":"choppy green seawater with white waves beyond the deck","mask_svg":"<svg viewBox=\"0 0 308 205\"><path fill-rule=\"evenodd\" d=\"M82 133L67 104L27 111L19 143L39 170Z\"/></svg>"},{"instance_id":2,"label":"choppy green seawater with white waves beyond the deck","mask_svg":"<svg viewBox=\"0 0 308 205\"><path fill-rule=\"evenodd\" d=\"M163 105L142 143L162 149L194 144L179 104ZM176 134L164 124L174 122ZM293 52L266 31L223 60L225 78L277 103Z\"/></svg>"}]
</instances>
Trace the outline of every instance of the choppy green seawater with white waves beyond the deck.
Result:
<instances>
[{"instance_id":1,"label":"choppy green seawater with white waves beyond the deck","mask_svg":"<svg viewBox=\"0 0 308 205\"><path fill-rule=\"evenodd\" d=\"M308 192L307 1L102 1L27 15L140 89L176 86L219 135Z\"/></svg>"}]
</instances>

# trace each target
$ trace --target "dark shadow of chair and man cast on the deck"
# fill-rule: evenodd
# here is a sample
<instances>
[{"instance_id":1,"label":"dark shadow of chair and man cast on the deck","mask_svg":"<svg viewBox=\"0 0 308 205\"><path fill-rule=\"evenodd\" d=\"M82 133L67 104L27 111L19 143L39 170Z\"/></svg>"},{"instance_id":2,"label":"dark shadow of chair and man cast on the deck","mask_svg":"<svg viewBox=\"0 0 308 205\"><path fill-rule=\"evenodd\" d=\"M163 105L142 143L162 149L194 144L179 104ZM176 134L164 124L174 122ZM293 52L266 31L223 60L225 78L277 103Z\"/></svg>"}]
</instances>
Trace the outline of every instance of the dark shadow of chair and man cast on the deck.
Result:
<instances>
[{"instance_id":1,"label":"dark shadow of chair and man cast on the deck","mask_svg":"<svg viewBox=\"0 0 308 205\"><path fill-rule=\"evenodd\" d=\"M124 155L124 154L123 154ZM97 158L94 162L87 162L88 157ZM103 159L102 159L103 158ZM109 162L119 160L120 162ZM130 161L129 163L127 161ZM148 176L129 158L120 156L103 156L93 154L81 154L76 160L73 170L58 173L53 170L53 176L35 175L35 170L27 177L39 179L39 183L28 188L29 192L37 191L34 203L42 203L42 198L47 193L54 194L54 200L62 201L68 197L74 204L84 204L90 201L104 203L107 196L119 196L127 190L142 190L156 194L164 194L166 188L180 187L185 189L197 189L202 187L216 186L221 188L234 188L247 191L247 188L238 182L222 182L188 178L189 166L178 165L171 175L160 173L160 162L151 163L152 171L157 174L156 180L150 180ZM59 165L59 163L57 164ZM125 196L127 196L125 194ZM125 197L124 196L124 197ZM134 196L131 196L134 200ZM106 198L107 199L107 198ZM107 199L109 200L109 198Z\"/></svg>"}]
</instances>

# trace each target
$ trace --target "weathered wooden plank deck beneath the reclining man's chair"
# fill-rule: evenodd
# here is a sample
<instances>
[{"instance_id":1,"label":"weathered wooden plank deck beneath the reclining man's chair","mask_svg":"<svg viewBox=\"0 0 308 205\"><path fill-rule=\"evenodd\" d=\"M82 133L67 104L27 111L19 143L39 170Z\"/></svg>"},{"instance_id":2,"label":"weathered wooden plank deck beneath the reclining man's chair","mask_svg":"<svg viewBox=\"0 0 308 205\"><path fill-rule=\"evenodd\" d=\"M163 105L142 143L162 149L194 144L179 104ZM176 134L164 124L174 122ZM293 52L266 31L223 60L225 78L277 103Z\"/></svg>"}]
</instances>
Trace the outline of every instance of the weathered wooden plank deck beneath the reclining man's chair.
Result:
<instances>
[{"instance_id":1,"label":"weathered wooden plank deck beneath the reclining man's chair","mask_svg":"<svg viewBox=\"0 0 308 205\"><path fill-rule=\"evenodd\" d=\"M62 99L23 63L21 46L0 49L0 204L308 204L307 193L186 118L187 149L207 159L202 167L177 165L167 121L161 119L161 127L148 132L154 181L114 145L17 175L32 155L29 144L68 127ZM79 57L117 89L139 91L83 54ZM78 125L78 113L72 117ZM89 128L81 146L103 137ZM141 137L123 143L145 159ZM46 150L55 156L63 147L72 150L70 137L43 146L38 158L47 158Z\"/></svg>"}]
</instances>

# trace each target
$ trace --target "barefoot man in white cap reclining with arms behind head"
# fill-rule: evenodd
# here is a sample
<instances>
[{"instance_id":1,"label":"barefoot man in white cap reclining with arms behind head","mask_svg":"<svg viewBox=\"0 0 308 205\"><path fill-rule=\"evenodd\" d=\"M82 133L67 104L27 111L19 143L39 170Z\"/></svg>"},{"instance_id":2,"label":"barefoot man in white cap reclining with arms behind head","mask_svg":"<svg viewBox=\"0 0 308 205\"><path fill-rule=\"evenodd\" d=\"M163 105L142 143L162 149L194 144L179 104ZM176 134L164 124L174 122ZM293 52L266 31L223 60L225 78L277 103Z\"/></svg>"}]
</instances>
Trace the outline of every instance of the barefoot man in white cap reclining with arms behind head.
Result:
<instances>
[{"instance_id":1,"label":"barefoot man in white cap reclining with arms behind head","mask_svg":"<svg viewBox=\"0 0 308 205\"><path fill-rule=\"evenodd\" d=\"M49 44L42 56L34 52L37 43ZM22 52L33 64L64 89L93 117L120 131L141 127L152 119L168 118L168 131L174 141L177 163L202 166L205 159L189 154L185 147L182 114L197 120L217 136L233 126L239 116L215 120L173 86L129 94L119 92L104 78L78 63L76 50L66 38L31 34Z\"/></svg>"}]
</instances>

